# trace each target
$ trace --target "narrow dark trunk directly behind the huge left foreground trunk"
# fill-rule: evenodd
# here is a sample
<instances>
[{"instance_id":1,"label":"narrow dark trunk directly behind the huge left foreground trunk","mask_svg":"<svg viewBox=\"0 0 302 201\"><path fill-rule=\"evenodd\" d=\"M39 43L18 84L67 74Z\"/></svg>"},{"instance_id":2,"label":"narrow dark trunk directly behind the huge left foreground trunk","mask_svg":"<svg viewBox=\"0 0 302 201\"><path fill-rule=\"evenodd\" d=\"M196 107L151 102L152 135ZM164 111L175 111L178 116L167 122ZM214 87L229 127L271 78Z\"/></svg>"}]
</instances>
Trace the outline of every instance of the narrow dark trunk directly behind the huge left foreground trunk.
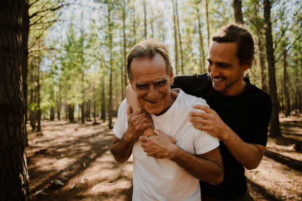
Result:
<instances>
[{"instance_id":1,"label":"narrow dark trunk directly behind the huge left foreground trunk","mask_svg":"<svg viewBox=\"0 0 302 201\"><path fill-rule=\"evenodd\" d=\"M22 48L22 81L23 81L23 97L24 97L24 103L25 103L25 124L27 124L27 67L28 67L28 34L29 34L29 1L28 0L22 0L22 7L23 7L23 17L22 17L22 40L21 40L21 48ZM25 129L25 135L26 135L26 146L28 146L28 139L27 139L27 130Z\"/></svg>"}]
</instances>

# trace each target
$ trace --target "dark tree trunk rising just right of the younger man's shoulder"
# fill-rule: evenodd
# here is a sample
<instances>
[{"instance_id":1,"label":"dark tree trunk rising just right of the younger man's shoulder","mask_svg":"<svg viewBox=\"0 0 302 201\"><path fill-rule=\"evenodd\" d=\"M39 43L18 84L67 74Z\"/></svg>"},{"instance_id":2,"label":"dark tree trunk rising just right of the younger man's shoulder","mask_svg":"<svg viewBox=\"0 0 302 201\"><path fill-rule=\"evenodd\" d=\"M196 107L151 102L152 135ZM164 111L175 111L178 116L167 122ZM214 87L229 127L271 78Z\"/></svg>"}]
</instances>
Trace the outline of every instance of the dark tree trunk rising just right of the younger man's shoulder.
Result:
<instances>
[{"instance_id":1,"label":"dark tree trunk rising just right of the younger man's shoulder","mask_svg":"<svg viewBox=\"0 0 302 201\"><path fill-rule=\"evenodd\" d=\"M275 58L274 49L271 35L271 22L270 22L270 1L264 0L264 23L265 23L265 40L266 40L266 59L268 64L268 84L269 93L272 101L272 113L270 118L269 134L270 136L281 136L280 122L279 122L279 109L277 99L277 85L275 74Z\"/></svg>"}]
</instances>

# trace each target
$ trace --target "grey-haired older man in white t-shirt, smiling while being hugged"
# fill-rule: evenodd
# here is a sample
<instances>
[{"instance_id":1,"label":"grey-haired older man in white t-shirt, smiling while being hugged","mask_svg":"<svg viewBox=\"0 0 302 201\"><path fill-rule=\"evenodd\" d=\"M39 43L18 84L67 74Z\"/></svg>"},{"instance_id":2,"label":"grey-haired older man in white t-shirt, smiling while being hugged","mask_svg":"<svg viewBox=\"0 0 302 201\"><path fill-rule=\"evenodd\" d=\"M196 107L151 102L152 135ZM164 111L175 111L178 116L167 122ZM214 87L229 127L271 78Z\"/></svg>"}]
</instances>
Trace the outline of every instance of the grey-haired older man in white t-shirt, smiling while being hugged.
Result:
<instances>
[{"instance_id":1,"label":"grey-haired older man in white t-shirt, smiling while being hugged","mask_svg":"<svg viewBox=\"0 0 302 201\"><path fill-rule=\"evenodd\" d=\"M200 201L198 179L213 185L223 179L218 139L189 122L189 108L207 105L205 100L171 90L168 51L154 40L130 50L127 73L143 108L132 111L126 100L121 103L111 152L121 163L133 153L132 200ZM143 136L151 121L156 135Z\"/></svg>"}]
</instances>

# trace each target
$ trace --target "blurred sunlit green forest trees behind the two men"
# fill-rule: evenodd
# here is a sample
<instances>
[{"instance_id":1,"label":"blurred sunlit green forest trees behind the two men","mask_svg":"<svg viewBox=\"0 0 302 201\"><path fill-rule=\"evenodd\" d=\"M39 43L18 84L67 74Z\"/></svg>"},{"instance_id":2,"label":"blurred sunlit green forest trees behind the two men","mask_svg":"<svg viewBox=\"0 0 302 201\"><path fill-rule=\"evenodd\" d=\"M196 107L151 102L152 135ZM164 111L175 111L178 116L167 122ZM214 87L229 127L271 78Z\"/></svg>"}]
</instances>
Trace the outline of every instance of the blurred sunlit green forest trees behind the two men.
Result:
<instances>
[{"instance_id":1,"label":"blurred sunlit green forest trees behind the two men","mask_svg":"<svg viewBox=\"0 0 302 201\"><path fill-rule=\"evenodd\" d=\"M33 130L40 130L41 118L84 123L101 117L112 127L128 84L126 55L136 42L154 38L166 44L175 75L204 73L209 37L235 21L244 22L255 39L257 66L249 77L272 96L270 134L280 134L279 112L301 113L299 0L30 0L29 5L28 89L23 89Z\"/></svg>"}]
</instances>

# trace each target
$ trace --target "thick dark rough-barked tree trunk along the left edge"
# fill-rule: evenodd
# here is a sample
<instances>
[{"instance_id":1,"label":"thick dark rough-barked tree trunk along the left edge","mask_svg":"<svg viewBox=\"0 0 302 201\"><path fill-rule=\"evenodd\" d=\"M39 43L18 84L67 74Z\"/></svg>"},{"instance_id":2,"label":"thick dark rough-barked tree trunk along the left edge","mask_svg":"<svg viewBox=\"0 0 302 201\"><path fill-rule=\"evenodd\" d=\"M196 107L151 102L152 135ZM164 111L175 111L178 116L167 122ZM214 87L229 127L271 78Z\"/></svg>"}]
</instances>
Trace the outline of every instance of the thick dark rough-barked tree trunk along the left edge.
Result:
<instances>
[{"instance_id":1,"label":"thick dark rough-barked tree trunk along the left edge","mask_svg":"<svg viewBox=\"0 0 302 201\"><path fill-rule=\"evenodd\" d=\"M29 201L22 83L23 3L0 3L0 200Z\"/></svg>"}]
</instances>

